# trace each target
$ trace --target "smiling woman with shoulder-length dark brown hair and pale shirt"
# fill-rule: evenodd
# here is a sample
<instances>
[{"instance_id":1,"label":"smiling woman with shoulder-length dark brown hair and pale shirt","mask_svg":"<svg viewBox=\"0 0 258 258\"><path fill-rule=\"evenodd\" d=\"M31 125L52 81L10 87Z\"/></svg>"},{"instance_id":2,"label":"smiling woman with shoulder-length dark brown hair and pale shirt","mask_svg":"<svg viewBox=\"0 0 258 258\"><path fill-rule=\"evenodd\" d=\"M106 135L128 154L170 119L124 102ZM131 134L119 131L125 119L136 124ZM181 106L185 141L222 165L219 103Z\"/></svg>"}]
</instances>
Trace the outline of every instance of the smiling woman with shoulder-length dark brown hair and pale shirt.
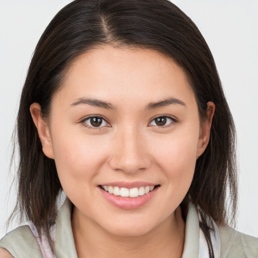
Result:
<instances>
[{"instance_id":1,"label":"smiling woman with shoulder-length dark brown hair and pale shirt","mask_svg":"<svg viewBox=\"0 0 258 258\"><path fill-rule=\"evenodd\" d=\"M212 54L170 2L63 8L35 49L17 124L31 223L0 257L258 254L227 226L235 131Z\"/></svg>"}]
</instances>

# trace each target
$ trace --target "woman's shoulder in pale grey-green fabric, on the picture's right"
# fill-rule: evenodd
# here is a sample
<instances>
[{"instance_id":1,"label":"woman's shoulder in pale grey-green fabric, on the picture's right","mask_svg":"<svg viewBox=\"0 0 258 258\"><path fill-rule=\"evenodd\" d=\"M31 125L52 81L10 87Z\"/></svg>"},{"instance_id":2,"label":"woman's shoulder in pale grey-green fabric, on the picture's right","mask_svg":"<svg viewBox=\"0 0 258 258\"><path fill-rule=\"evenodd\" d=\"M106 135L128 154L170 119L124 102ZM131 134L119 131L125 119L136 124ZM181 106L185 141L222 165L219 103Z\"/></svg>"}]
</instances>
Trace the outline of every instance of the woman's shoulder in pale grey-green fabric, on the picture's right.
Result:
<instances>
[{"instance_id":1,"label":"woman's shoulder in pale grey-green fabric, on the picture's right","mask_svg":"<svg viewBox=\"0 0 258 258\"><path fill-rule=\"evenodd\" d=\"M243 234L229 226L218 226L221 258L258 257L258 238Z\"/></svg>"}]
</instances>

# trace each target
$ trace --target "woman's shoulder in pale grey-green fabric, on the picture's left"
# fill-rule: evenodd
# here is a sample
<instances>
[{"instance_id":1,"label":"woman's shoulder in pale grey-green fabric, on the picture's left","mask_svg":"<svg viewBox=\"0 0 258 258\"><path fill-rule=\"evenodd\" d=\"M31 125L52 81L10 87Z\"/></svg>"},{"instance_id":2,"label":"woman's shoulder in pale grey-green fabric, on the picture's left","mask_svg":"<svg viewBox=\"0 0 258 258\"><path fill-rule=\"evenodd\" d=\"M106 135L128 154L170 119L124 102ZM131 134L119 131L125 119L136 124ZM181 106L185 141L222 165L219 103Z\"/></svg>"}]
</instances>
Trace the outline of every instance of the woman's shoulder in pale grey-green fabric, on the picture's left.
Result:
<instances>
[{"instance_id":1,"label":"woman's shoulder in pale grey-green fabric, on the picture's left","mask_svg":"<svg viewBox=\"0 0 258 258\"><path fill-rule=\"evenodd\" d=\"M37 240L27 225L20 226L4 236L0 240L0 250L0 258L2 258L2 253L5 255L3 258L23 258L29 257L31 254L33 254L33 257L42 257ZM11 256L9 253L11 253Z\"/></svg>"}]
</instances>

